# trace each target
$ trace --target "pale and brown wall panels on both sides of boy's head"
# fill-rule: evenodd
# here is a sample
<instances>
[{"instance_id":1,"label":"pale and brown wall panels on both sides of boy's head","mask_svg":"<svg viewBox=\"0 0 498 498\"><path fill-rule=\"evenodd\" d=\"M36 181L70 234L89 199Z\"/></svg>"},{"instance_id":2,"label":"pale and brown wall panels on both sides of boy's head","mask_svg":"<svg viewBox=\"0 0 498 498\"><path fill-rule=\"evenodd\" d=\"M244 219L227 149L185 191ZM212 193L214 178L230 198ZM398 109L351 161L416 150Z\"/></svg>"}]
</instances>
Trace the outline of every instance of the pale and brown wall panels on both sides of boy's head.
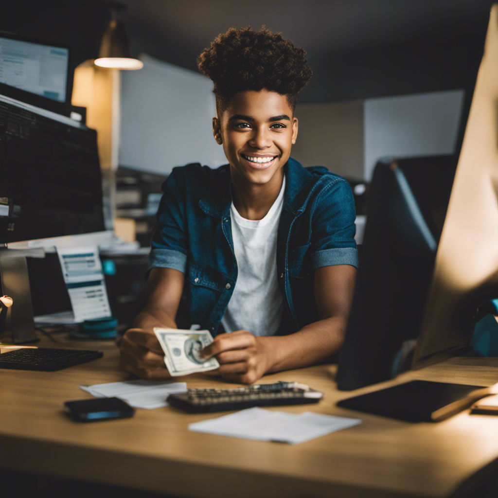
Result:
<instances>
[{"instance_id":1,"label":"pale and brown wall panels on both sides of boy's head","mask_svg":"<svg viewBox=\"0 0 498 498\"><path fill-rule=\"evenodd\" d=\"M122 166L168 174L174 166L226 162L211 131L212 83L192 71L141 57L122 73ZM292 157L350 179L370 180L379 157L454 152L464 91L297 104Z\"/></svg>"}]
</instances>

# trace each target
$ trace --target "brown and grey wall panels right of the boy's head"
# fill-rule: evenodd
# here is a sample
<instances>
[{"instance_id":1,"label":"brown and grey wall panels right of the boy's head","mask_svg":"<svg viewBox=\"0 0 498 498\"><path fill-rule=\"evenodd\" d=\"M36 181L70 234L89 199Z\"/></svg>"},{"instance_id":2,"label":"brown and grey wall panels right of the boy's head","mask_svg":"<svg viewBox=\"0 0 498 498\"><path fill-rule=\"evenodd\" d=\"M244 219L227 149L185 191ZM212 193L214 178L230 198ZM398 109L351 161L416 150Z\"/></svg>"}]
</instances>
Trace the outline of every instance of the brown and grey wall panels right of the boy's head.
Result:
<instances>
[{"instance_id":1,"label":"brown and grey wall panels right of the boy's head","mask_svg":"<svg viewBox=\"0 0 498 498\"><path fill-rule=\"evenodd\" d=\"M292 156L351 179L372 178L380 157L455 151L463 90L298 104L299 132Z\"/></svg>"}]
</instances>

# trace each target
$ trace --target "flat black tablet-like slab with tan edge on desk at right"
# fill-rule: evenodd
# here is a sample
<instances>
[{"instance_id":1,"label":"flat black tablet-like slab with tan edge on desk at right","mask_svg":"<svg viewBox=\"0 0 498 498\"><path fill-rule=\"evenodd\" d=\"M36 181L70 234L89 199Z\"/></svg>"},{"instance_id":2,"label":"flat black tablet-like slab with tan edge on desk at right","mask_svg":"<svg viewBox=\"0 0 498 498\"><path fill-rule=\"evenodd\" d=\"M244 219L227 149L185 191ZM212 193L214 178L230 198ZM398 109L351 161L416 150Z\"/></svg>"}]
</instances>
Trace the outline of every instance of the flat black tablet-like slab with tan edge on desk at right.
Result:
<instances>
[{"instance_id":1,"label":"flat black tablet-like slab with tan edge on desk at right","mask_svg":"<svg viewBox=\"0 0 498 498\"><path fill-rule=\"evenodd\" d=\"M337 406L407 422L437 422L465 410L495 386L412 380L339 401Z\"/></svg>"}]
</instances>

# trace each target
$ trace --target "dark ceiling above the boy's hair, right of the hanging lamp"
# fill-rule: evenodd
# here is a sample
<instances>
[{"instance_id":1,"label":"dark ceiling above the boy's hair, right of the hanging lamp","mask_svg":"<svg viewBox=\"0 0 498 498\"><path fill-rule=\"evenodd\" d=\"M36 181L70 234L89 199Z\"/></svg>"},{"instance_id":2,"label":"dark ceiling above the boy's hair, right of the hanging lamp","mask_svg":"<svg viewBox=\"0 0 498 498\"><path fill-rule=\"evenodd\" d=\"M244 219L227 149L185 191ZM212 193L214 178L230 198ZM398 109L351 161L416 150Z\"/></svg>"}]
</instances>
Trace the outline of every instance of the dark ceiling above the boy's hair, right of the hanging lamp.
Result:
<instances>
[{"instance_id":1,"label":"dark ceiling above the boy's hair, right of the hanging lamp","mask_svg":"<svg viewBox=\"0 0 498 498\"><path fill-rule=\"evenodd\" d=\"M304 48L303 102L463 88L481 59L490 0L123 0L130 46L196 71L229 27L262 25Z\"/></svg>"}]
</instances>

